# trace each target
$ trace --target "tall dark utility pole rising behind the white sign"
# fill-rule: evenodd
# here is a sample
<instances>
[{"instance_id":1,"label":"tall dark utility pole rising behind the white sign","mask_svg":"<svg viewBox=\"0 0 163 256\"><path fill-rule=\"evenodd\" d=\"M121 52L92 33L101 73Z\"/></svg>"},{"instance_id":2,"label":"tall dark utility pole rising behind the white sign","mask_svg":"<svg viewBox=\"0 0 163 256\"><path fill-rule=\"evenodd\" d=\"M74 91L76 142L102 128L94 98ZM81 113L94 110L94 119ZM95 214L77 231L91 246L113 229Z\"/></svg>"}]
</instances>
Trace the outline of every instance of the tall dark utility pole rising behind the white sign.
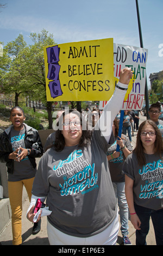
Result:
<instances>
[{"instance_id":1,"label":"tall dark utility pole rising behind the white sign","mask_svg":"<svg viewBox=\"0 0 163 256\"><path fill-rule=\"evenodd\" d=\"M139 37L140 37L140 47L143 48L143 41L142 41L142 33L141 33L141 23L140 23L140 15L139 15L139 5L138 0L136 0L136 10L137 10L137 21L139 26ZM147 112L147 119L149 119L149 99L148 99L148 85L147 85L147 76L146 76L146 84L145 84L145 97L146 97L146 112Z\"/></svg>"}]
</instances>

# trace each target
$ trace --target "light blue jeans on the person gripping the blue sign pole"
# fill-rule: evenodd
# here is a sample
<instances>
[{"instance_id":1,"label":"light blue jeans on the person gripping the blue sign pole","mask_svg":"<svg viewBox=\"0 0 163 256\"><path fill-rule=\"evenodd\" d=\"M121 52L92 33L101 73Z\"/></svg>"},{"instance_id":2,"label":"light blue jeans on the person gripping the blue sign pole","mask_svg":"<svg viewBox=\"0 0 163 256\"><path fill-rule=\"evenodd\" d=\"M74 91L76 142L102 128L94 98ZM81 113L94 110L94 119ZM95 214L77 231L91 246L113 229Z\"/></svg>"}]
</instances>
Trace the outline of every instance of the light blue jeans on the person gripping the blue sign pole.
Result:
<instances>
[{"instance_id":1,"label":"light blue jeans on the person gripping the blue sign pole","mask_svg":"<svg viewBox=\"0 0 163 256\"><path fill-rule=\"evenodd\" d=\"M125 182L112 182L120 209L120 222L122 236L128 235L128 204L124 191Z\"/></svg>"}]
</instances>

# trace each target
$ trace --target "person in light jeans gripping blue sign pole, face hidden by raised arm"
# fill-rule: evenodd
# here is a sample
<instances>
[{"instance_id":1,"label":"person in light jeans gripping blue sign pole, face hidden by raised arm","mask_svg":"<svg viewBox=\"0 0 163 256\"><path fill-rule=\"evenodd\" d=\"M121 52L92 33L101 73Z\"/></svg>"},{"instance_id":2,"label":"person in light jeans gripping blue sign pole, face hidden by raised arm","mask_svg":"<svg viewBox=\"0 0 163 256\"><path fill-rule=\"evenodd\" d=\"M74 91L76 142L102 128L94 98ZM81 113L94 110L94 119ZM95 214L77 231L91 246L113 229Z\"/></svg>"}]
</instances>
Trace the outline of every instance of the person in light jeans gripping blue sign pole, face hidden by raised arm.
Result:
<instances>
[{"instance_id":1,"label":"person in light jeans gripping blue sign pole, face hidden by raised arm","mask_svg":"<svg viewBox=\"0 0 163 256\"><path fill-rule=\"evenodd\" d=\"M130 245L128 238L128 204L125 195L125 176L122 172L123 163L126 157L133 150L129 138L125 135L118 139L118 121L115 118L112 124L112 132L116 141L110 146L107 153L109 162L109 170L111 175L112 185L117 197L118 206L120 209L121 233L124 245ZM120 145L120 151L117 151L117 145Z\"/></svg>"}]
</instances>

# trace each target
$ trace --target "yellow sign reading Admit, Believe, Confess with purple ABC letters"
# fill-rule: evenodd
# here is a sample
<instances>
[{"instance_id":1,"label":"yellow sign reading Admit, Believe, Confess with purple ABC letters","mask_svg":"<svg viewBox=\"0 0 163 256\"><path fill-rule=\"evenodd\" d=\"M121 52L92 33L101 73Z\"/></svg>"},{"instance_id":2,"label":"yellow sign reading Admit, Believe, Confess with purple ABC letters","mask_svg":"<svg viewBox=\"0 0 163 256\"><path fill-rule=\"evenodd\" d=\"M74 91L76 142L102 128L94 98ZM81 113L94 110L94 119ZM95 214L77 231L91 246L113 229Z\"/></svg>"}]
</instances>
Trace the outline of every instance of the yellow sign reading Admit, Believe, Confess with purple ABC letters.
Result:
<instances>
[{"instance_id":1,"label":"yellow sign reading Admit, Believe, Confess with purple ABC letters","mask_svg":"<svg viewBox=\"0 0 163 256\"><path fill-rule=\"evenodd\" d=\"M48 101L109 100L114 93L113 39L44 47Z\"/></svg>"}]
</instances>

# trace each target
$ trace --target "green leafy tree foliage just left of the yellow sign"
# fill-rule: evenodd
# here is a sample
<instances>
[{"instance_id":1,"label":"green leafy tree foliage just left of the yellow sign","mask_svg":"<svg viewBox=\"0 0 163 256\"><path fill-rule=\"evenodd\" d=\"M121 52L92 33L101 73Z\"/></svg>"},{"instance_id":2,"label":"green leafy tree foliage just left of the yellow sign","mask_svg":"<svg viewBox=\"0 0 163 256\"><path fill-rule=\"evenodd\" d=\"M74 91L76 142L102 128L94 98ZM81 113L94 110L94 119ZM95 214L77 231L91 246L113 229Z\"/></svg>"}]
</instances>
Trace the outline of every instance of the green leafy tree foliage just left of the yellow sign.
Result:
<instances>
[{"instance_id":1,"label":"green leafy tree foliage just left of the yellow sign","mask_svg":"<svg viewBox=\"0 0 163 256\"><path fill-rule=\"evenodd\" d=\"M45 29L41 33L31 33L34 42L28 45L23 35L3 47L0 58L0 93L15 94L18 105L20 94L29 96L29 100L41 100L46 103L45 68L43 46L55 44L53 35Z\"/></svg>"}]
</instances>

